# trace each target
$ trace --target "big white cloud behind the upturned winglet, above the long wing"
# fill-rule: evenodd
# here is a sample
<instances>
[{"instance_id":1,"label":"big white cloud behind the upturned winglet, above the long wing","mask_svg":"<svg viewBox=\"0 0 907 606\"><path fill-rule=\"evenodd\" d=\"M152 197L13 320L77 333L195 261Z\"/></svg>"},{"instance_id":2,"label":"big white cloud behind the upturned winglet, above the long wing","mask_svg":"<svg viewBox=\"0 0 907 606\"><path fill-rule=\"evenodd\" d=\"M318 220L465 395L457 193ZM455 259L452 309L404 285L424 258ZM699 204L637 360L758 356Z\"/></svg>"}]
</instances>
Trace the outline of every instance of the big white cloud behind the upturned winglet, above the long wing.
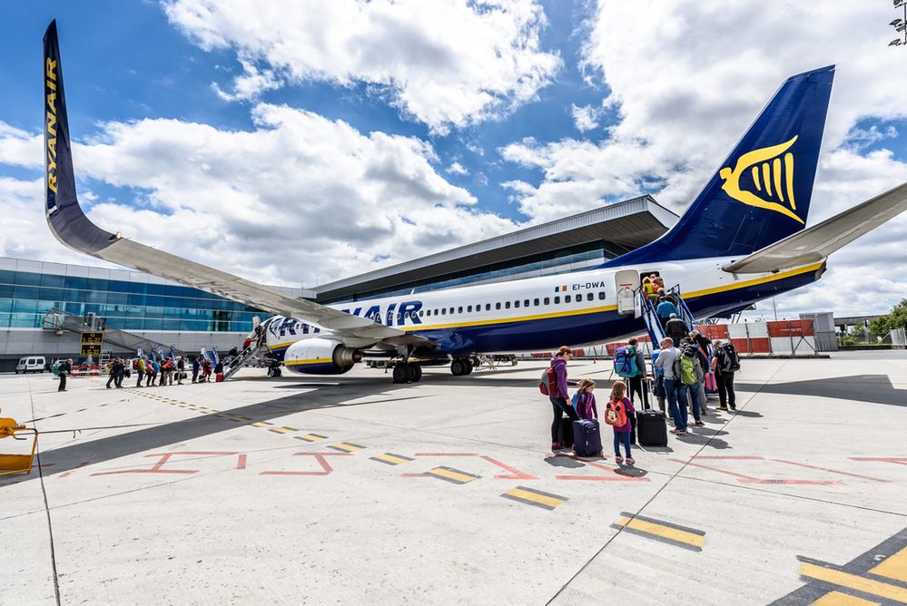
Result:
<instances>
[{"instance_id":1,"label":"big white cloud behind the upturned winglet, above the long wing","mask_svg":"<svg viewBox=\"0 0 907 606\"><path fill-rule=\"evenodd\" d=\"M252 116L251 132L163 119L103 124L74 145L76 169L133 188L136 200L97 201L88 215L174 254L296 286L515 228L445 181L427 142L366 135L286 106L259 104ZM0 122L0 161L40 168L41 157L41 135ZM0 181L15 216L0 254L84 262L45 227L41 189L40 180Z\"/></svg>"}]
</instances>

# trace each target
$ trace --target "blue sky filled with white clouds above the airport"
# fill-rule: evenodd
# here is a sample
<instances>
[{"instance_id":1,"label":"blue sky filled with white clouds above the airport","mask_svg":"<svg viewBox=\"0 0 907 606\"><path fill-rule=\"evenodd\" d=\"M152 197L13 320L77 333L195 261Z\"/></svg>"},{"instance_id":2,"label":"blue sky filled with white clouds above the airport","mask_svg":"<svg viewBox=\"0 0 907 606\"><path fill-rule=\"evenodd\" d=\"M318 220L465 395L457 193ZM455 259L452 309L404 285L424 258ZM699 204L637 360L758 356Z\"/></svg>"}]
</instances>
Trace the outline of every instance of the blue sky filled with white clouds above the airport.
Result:
<instances>
[{"instance_id":1,"label":"blue sky filled with white clouds above the airport","mask_svg":"<svg viewBox=\"0 0 907 606\"><path fill-rule=\"evenodd\" d=\"M883 0L7 0L0 255L97 265L43 217L57 20L100 227L311 287L651 194L677 213L789 75L835 64L808 225L907 181L907 48ZM903 133L903 134L902 134ZM883 313L907 216L776 298ZM762 304L756 314L773 315Z\"/></svg>"}]
</instances>

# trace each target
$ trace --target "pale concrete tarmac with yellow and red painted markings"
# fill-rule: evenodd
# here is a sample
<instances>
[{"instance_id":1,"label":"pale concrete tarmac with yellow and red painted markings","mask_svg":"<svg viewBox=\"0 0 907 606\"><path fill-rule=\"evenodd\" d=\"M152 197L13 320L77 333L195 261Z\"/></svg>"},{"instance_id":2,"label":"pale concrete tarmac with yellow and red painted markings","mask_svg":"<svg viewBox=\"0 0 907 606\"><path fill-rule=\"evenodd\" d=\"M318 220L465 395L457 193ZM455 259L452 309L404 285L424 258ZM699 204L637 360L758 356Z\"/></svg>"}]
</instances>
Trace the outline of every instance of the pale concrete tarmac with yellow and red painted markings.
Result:
<instances>
[{"instance_id":1,"label":"pale concrete tarmac with yellow and red painted markings","mask_svg":"<svg viewBox=\"0 0 907 606\"><path fill-rule=\"evenodd\" d=\"M0 604L907 603L904 352L744 358L736 414L634 466L607 426L550 451L545 366L0 376L41 432L0 476ZM601 412L610 364L569 373Z\"/></svg>"}]
</instances>

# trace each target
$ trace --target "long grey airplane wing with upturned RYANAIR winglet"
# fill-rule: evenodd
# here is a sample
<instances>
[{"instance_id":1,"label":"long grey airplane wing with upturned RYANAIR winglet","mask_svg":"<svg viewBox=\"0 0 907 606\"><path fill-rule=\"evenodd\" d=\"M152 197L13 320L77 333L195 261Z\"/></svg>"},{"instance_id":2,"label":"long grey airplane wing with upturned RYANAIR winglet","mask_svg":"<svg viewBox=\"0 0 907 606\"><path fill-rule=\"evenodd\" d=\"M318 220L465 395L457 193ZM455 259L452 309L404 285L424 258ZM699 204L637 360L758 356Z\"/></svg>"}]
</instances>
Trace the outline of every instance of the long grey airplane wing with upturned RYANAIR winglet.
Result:
<instances>
[{"instance_id":1,"label":"long grey airplane wing with upturned RYANAIR winglet","mask_svg":"<svg viewBox=\"0 0 907 606\"><path fill-rule=\"evenodd\" d=\"M341 338L392 345L428 344L429 339L328 308L256 284L163 250L100 229L85 216L75 193L75 175L66 115L63 70L56 22L44 34L44 192L47 224L65 246L127 268L172 279L252 307L291 316L330 330Z\"/></svg>"}]
</instances>

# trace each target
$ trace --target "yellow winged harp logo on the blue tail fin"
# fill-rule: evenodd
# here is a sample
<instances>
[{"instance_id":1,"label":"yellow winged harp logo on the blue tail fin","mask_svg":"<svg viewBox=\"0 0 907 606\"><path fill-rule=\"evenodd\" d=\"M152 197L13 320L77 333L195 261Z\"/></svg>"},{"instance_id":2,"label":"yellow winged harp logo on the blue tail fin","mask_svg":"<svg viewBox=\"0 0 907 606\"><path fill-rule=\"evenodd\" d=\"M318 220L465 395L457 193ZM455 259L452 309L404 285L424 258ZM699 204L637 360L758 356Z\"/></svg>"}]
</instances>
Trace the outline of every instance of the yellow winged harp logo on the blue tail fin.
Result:
<instances>
[{"instance_id":1,"label":"yellow winged harp logo on the blue tail fin","mask_svg":"<svg viewBox=\"0 0 907 606\"><path fill-rule=\"evenodd\" d=\"M780 212L805 225L796 213L794 154L787 151L796 140L797 135L794 135L790 141L744 153L737 159L734 170L725 167L718 171L718 176L725 180L721 189L734 200ZM741 188L741 178L747 173L754 191Z\"/></svg>"}]
</instances>

